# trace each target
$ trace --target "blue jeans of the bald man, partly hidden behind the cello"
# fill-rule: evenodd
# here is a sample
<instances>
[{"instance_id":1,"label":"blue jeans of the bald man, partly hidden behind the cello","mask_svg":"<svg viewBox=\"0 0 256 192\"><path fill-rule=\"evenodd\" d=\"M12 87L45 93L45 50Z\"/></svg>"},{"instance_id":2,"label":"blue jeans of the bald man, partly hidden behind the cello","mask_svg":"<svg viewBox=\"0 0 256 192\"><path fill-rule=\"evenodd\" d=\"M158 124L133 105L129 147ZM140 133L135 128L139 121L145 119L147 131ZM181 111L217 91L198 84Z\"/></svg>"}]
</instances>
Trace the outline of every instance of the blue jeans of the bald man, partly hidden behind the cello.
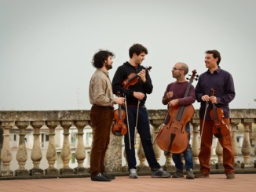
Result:
<instances>
[{"instance_id":1,"label":"blue jeans of the bald man, partly hidden behind the cello","mask_svg":"<svg viewBox=\"0 0 256 192\"><path fill-rule=\"evenodd\" d=\"M190 140L190 128L189 123L186 125L186 131L188 132L188 143ZM185 167L186 170L189 168L193 169L193 157L192 157L192 150L190 144L188 144L188 148L182 153L185 159ZM181 161L181 154L173 154L173 160L175 163L175 167L177 170L183 170L183 163Z\"/></svg>"}]
</instances>

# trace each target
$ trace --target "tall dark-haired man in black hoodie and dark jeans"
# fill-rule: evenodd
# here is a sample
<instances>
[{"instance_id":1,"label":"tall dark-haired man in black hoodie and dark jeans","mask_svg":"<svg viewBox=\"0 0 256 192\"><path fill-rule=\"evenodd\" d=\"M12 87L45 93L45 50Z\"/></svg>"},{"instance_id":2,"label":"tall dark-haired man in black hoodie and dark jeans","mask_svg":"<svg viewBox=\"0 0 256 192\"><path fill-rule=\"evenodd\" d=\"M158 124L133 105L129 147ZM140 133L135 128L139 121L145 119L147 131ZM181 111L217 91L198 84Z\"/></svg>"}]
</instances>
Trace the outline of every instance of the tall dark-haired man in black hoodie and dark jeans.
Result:
<instances>
[{"instance_id":1,"label":"tall dark-haired man in black hoodie and dark jeans","mask_svg":"<svg viewBox=\"0 0 256 192\"><path fill-rule=\"evenodd\" d=\"M164 172L163 168L161 168L159 163L156 161L152 147L148 112L144 104L147 99L147 94L152 93L153 85L148 71L145 67L141 66L146 54L148 54L148 49L143 45L132 45L129 49L129 62L123 63L122 66L118 67L112 80L113 92L115 94L117 94L117 92L121 92L121 94L126 96L126 111L128 114L130 135L128 132L124 137L124 141L131 179L137 179L137 162L134 149L134 132L136 128L141 137L141 143L148 165L152 169L152 177L170 177L170 174ZM133 76L130 74L136 75L137 82L127 81L127 83L131 83L131 85L124 86L123 82L129 76Z\"/></svg>"}]
</instances>

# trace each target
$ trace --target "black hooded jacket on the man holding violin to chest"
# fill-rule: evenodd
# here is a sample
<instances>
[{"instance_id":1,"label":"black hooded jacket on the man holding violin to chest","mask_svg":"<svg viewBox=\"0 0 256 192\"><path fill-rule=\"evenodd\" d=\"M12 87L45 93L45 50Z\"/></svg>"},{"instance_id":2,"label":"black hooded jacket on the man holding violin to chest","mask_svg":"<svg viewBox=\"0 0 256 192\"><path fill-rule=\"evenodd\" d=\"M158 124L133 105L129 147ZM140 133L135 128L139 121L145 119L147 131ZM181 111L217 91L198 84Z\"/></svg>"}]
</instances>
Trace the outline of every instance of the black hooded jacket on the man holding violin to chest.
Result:
<instances>
[{"instance_id":1,"label":"black hooded jacket on the man holding violin to chest","mask_svg":"<svg viewBox=\"0 0 256 192\"><path fill-rule=\"evenodd\" d=\"M142 69L146 70L146 82L143 83L141 81L141 78L138 79L138 82L135 85L130 85L128 89L123 88L123 81L128 78L130 74L136 75ZM133 75L132 75L133 76ZM148 70L139 65L137 69L133 67L130 63L126 62L123 63L123 65L119 66L118 69L115 71L114 78L112 80L112 89L114 94L116 95L117 92L120 92L121 94L124 94L126 96L126 103L127 105L133 105L137 106L137 98L133 96L133 92L143 92L144 93L144 99L141 100L140 105L144 106L144 103L147 100L147 94L152 93L153 85L151 82L151 78L148 74Z\"/></svg>"}]
</instances>

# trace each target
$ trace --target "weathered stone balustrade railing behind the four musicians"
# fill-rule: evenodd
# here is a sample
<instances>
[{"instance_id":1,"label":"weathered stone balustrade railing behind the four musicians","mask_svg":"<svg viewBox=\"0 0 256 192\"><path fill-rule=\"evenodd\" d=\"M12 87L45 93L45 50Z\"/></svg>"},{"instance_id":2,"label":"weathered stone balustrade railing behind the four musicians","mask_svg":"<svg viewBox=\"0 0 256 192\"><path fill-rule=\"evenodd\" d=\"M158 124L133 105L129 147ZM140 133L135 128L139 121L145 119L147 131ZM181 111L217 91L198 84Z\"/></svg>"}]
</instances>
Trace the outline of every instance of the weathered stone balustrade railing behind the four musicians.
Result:
<instances>
[{"instance_id":1,"label":"weathered stone balustrade railing behind the four musicians","mask_svg":"<svg viewBox=\"0 0 256 192\"><path fill-rule=\"evenodd\" d=\"M90 176L89 167L84 166L86 159L86 148L84 145L84 128L90 125L89 110L53 110L53 111L0 111L0 144L1 150L1 170L0 179L19 179L19 178L38 178L38 177L81 177ZM198 110L192 118L191 134L192 134L192 154L194 158L195 169L199 168L199 114ZM166 110L148 110L150 124L152 125L152 139L155 139L159 132L159 127L163 123ZM256 172L256 110L255 109L232 109L231 110L231 131L232 144L235 151L236 172ZM77 129L77 145L75 147L75 159L77 167L71 168L71 147L68 136L71 126ZM46 151L48 168L42 169L40 162L42 161L42 147L40 145L40 132L42 127L49 131L49 144ZM57 127L63 129L63 144L60 150L60 158L62 168L57 168L57 147L56 147L56 130ZM16 129L19 134L19 143L16 149L16 164L19 168L12 170L10 162L13 160L12 149L10 147L10 131ZM32 129L33 147L31 149L31 160L27 160L26 132ZM238 134L243 138L243 143L239 147ZM156 158L163 159L163 168L168 172L174 172L175 168L172 163L171 154L166 155L159 147L154 144ZM253 148L254 147L254 148ZM1 145L0 145L1 148ZM214 161L214 158L217 162ZM111 135L111 142L108 146L105 165L108 172L112 175L123 176L128 175L126 165L122 165L123 154L122 137ZM137 170L141 175L150 174L147 162L144 157L144 151L141 143L137 144ZM240 160L239 160L240 159ZM26 169L26 162L32 161L33 168ZM214 147L213 160L210 161L211 172L223 172L222 165L222 148L217 142Z\"/></svg>"}]
</instances>

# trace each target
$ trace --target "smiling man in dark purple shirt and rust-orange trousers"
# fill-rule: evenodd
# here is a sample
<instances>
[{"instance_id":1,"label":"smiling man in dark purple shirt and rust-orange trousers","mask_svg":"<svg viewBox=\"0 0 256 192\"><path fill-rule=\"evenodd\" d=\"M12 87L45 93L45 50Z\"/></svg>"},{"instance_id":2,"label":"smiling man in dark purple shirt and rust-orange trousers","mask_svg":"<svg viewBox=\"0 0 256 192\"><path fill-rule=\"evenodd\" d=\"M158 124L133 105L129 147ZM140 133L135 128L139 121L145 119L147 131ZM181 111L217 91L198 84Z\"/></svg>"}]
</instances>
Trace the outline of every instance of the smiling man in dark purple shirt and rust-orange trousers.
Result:
<instances>
[{"instance_id":1,"label":"smiling man in dark purple shirt and rust-orange trousers","mask_svg":"<svg viewBox=\"0 0 256 192\"><path fill-rule=\"evenodd\" d=\"M208 50L204 62L208 70L199 76L199 82L196 85L196 100L201 105L199 110L201 132L200 172L195 175L196 178L208 177L210 174L210 150L214 127L214 120L210 118L210 111L213 109L212 103L223 110L223 121L229 128L229 103L236 95L232 75L219 67L221 54L217 50ZM212 89L215 90L216 96L211 96ZM218 138L218 141L223 147L223 165L226 178L234 179L234 151L230 132L228 136Z\"/></svg>"}]
</instances>

